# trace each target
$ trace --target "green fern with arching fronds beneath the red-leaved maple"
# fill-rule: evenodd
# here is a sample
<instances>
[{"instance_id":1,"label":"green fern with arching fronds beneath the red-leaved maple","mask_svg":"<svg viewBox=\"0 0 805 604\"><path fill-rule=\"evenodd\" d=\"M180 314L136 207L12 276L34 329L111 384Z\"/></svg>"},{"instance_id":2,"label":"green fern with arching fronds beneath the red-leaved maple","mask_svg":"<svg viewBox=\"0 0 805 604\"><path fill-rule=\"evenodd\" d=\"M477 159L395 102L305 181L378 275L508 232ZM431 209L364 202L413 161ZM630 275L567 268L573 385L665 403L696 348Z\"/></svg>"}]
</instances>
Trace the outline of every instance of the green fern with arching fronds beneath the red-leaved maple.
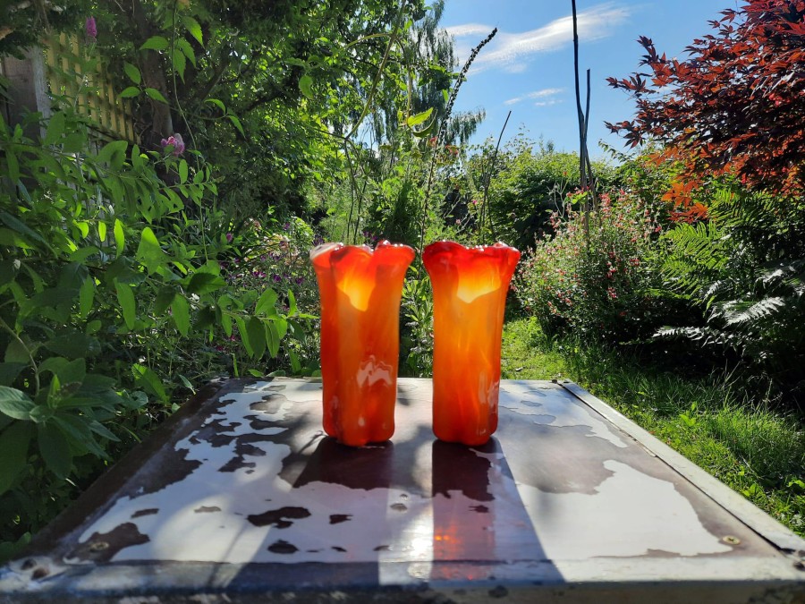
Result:
<instances>
[{"instance_id":1,"label":"green fern with arching fronds beneath the red-leaved maple","mask_svg":"<svg viewBox=\"0 0 805 604\"><path fill-rule=\"evenodd\" d=\"M728 354L748 376L784 392L805 391L805 231L801 200L722 186L708 218L680 223L664 239L666 283L690 307L687 321L658 331Z\"/></svg>"}]
</instances>

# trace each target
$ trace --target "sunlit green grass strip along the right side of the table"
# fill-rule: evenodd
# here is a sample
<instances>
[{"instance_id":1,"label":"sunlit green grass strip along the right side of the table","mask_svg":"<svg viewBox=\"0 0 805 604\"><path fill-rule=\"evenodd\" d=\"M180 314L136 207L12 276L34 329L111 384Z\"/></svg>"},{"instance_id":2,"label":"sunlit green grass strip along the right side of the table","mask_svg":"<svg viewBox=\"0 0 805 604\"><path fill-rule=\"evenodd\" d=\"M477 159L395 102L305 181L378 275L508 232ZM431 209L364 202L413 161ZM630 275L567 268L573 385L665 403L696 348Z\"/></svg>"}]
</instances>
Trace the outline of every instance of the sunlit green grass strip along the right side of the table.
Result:
<instances>
[{"instance_id":1,"label":"sunlit green grass strip along the right side of the table","mask_svg":"<svg viewBox=\"0 0 805 604\"><path fill-rule=\"evenodd\" d=\"M729 376L687 378L623 353L551 340L536 319L504 328L504 379L571 379L805 537L805 422Z\"/></svg>"}]
</instances>

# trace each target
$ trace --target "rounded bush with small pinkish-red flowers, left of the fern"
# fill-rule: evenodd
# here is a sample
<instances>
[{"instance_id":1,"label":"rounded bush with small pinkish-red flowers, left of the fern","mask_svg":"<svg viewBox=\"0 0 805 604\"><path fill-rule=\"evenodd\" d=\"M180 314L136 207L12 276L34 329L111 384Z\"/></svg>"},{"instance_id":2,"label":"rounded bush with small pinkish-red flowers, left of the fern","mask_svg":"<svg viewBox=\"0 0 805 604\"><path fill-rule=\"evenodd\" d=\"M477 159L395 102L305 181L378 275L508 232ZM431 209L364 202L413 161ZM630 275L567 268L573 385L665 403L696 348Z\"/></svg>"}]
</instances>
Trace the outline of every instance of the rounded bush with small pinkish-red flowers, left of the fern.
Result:
<instances>
[{"instance_id":1,"label":"rounded bush with small pinkish-red flowers, left of the fern","mask_svg":"<svg viewBox=\"0 0 805 604\"><path fill-rule=\"evenodd\" d=\"M514 287L522 307L548 334L572 330L614 342L649 336L663 315L652 293L661 284L654 212L623 190L604 193L589 215L588 241L573 201L569 194L563 217L551 215L554 236L521 262Z\"/></svg>"}]
</instances>

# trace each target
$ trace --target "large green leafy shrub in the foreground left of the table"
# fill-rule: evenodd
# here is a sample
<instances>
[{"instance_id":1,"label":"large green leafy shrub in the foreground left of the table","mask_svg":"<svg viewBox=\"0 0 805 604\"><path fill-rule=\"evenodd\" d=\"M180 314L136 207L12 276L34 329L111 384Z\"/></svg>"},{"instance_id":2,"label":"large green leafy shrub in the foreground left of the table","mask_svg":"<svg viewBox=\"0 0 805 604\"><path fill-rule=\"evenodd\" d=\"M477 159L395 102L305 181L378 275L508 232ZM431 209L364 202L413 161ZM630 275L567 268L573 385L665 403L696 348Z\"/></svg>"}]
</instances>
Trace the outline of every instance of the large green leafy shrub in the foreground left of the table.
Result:
<instances>
[{"instance_id":1,"label":"large green leafy shrub in the foreground left of the table","mask_svg":"<svg viewBox=\"0 0 805 604\"><path fill-rule=\"evenodd\" d=\"M44 136L27 137L29 125ZM0 122L6 553L176 395L228 372L222 334L237 334L238 353L265 370L289 332L309 330L292 293L225 279L220 259L238 251L209 166L124 140L90 151L90 125L70 105L48 120Z\"/></svg>"}]
</instances>

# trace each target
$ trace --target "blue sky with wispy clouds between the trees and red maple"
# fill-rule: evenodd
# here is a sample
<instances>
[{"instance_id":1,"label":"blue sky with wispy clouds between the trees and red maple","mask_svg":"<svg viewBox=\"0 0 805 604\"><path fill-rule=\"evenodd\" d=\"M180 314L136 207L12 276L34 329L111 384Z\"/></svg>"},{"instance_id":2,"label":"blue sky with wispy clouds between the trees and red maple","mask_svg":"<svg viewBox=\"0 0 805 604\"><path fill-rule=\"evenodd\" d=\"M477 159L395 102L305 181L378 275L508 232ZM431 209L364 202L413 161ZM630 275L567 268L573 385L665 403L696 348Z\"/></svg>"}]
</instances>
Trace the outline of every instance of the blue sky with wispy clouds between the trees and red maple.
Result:
<instances>
[{"instance_id":1,"label":"blue sky with wispy clouds between the trees and red maple","mask_svg":"<svg viewBox=\"0 0 805 604\"><path fill-rule=\"evenodd\" d=\"M582 104L585 71L591 70L589 152L601 157L598 140L623 149L623 141L604 122L634 115L633 100L610 88L606 78L638 71L644 52L637 38L652 38L657 51L669 58L686 58L684 47L712 33L708 21L737 2L577 0L576 7ZM455 104L459 111L483 107L487 112L473 142L490 136L497 140L511 109L504 140L522 126L533 140L541 136L557 150L578 150L570 0L445 0L441 26L453 35L461 64L472 47L498 29L472 64Z\"/></svg>"}]
</instances>

